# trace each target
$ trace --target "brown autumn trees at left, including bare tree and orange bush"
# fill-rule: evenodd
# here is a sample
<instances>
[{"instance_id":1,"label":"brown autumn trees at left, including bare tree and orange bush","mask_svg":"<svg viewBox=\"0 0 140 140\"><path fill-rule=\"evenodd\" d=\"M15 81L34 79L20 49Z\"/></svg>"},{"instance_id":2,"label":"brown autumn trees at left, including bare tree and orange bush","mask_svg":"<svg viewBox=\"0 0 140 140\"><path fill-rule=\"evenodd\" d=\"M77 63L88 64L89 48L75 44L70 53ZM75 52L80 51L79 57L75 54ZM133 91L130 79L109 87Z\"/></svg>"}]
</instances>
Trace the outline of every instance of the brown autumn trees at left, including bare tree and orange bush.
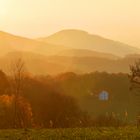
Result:
<instances>
[{"instance_id":1,"label":"brown autumn trees at left, including bare tree and orange bush","mask_svg":"<svg viewBox=\"0 0 140 140\"><path fill-rule=\"evenodd\" d=\"M15 66L12 76L6 77L3 73L8 90L0 95L0 128L88 125L89 116L81 111L73 97L57 92L55 87L32 76L23 75L21 62Z\"/></svg>"}]
</instances>

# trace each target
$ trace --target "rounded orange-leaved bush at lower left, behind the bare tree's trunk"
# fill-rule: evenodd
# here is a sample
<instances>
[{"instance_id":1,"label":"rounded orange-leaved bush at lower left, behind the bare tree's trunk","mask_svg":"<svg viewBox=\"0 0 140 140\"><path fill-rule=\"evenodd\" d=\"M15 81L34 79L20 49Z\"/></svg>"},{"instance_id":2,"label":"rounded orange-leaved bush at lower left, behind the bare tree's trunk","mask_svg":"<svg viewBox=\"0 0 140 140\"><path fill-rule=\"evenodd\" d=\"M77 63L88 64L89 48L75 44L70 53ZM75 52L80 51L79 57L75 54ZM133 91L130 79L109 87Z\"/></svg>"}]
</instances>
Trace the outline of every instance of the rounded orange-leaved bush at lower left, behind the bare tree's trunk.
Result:
<instances>
[{"instance_id":1,"label":"rounded orange-leaved bush at lower left, behind the bare tree's trunk","mask_svg":"<svg viewBox=\"0 0 140 140\"><path fill-rule=\"evenodd\" d=\"M1 95L0 96L0 128L15 128L13 125L13 117L15 117L15 96ZM32 109L29 102L19 97L17 101L17 115L19 120L16 122L16 128L31 127ZM14 123L15 124L15 123Z\"/></svg>"}]
</instances>

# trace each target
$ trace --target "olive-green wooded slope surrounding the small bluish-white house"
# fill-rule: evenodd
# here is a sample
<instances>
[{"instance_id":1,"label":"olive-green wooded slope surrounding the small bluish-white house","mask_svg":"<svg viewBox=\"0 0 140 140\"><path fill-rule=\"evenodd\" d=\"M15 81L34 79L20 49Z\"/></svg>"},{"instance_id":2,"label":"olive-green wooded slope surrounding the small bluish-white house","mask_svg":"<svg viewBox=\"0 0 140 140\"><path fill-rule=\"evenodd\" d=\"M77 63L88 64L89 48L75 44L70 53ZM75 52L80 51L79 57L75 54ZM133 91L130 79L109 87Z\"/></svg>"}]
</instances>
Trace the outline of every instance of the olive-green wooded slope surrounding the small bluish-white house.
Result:
<instances>
[{"instance_id":1,"label":"olive-green wooded slope surrounding the small bluish-white house","mask_svg":"<svg viewBox=\"0 0 140 140\"><path fill-rule=\"evenodd\" d=\"M92 117L113 113L120 120L132 122L136 119L139 98L135 96L135 91L130 91L128 74L93 72L77 75L67 72L55 77L40 76L39 79L55 86L58 92L76 98L80 107ZM107 101L99 100L102 91L108 92Z\"/></svg>"}]
</instances>

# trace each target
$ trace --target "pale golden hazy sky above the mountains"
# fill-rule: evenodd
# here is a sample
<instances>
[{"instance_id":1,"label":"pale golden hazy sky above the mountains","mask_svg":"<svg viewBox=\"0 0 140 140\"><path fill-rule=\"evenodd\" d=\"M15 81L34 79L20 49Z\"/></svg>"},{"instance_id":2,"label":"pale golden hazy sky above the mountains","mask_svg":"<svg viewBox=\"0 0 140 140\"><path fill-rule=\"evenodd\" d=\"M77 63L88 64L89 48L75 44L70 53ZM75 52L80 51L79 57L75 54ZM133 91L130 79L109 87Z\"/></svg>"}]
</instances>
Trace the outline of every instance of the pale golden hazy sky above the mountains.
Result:
<instances>
[{"instance_id":1,"label":"pale golden hazy sky above the mountains","mask_svg":"<svg viewBox=\"0 0 140 140\"><path fill-rule=\"evenodd\" d=\"M140 47L140 0L0 0L0 30L42 37L86 30Z\"/></svg>"}]
</instances>

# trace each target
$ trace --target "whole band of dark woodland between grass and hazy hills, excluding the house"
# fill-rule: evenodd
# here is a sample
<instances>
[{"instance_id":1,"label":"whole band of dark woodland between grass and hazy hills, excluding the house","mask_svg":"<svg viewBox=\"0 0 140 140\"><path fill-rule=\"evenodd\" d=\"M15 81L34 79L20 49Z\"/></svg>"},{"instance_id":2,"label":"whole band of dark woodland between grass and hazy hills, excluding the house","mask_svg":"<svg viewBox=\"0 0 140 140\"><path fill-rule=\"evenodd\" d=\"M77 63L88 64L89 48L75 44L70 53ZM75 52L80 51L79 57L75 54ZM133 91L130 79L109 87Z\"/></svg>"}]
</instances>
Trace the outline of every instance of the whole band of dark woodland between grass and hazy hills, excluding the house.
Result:
<instances>
[{"instance_id":1,"label":"whole band of dark woodland between grass and hazy hills, excluding the house","mask_svg":"<svg viewBox=\"0 0 140 140\"><path fill-rule=\"evenodd\" d=\"M94 72L33 76L22 63L0 71L1 128L64 128L135 122L138 105L127 74ZM108 93L106 100L100 94Z\"/></svg>"}]
</instances>

